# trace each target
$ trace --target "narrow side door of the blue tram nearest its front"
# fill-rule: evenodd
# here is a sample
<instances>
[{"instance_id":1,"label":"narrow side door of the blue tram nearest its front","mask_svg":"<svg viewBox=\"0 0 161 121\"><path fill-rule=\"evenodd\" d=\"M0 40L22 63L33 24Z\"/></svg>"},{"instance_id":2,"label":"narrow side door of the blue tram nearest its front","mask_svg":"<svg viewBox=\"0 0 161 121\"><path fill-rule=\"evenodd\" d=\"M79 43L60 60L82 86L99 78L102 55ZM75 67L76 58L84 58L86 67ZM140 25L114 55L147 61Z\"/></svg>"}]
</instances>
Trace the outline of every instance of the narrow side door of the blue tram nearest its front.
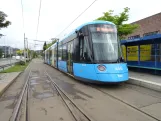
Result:
<instances>
[{"instance_id":1,"label":"narrow side door of the blue tram nearest its front","mask_svg":"<svg viewBox=\"0 0 161 121\"><path fill-rule=\"evenodd\" d=\"M68 66L68 73L73 74L73 42L68 43L68 61L67 61L67 66Z\"/></svg>"}]
</instances>

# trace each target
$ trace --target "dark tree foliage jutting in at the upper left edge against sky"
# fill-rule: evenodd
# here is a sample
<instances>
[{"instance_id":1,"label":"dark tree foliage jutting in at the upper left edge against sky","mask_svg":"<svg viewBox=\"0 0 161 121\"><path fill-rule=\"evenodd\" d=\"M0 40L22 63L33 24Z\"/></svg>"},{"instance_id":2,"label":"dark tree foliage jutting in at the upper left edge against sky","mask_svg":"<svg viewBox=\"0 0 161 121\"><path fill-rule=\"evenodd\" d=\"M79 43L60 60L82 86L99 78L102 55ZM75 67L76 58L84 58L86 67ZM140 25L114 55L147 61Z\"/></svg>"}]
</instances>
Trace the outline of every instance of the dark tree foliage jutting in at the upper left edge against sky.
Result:
<instances>
[{"instance_id":1,"label":"dark tree foliage jutting in at the upper left edge against sky","mask_svg":"<svg viewBox=\"0 0 161 121\"><path fill-rule=\"evenodd\" d=\"M7 17L7 15L4 12L0 11L0 30L1 30L1 28L6 28L11 24L10 21L6 20L6 17ZM2 36L2 34L0 34L0 37L1 36Z\"/></svg>"}]
</instances>

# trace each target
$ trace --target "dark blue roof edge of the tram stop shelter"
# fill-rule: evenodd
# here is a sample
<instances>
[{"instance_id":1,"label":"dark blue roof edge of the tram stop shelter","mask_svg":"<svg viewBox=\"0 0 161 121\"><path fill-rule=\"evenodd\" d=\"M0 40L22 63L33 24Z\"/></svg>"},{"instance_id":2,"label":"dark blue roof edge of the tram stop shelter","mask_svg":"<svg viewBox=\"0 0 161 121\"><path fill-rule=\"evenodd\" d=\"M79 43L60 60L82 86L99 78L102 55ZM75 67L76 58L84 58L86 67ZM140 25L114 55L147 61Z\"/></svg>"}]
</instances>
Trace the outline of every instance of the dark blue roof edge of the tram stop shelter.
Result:
<instances>
[{"instance_id":1,"label":"dark blue roof edge of the tram stop shelter","mask_svg":"<svg viewBox=\"0 0 161 121\"><path fill-rule=\"evenodd\" d=\"M121 40L122 45L145 45L161 43L161 34L155 34L151 36L145 36L142 38L132 39L132 40Z\"/></svg>"}]
</instances>

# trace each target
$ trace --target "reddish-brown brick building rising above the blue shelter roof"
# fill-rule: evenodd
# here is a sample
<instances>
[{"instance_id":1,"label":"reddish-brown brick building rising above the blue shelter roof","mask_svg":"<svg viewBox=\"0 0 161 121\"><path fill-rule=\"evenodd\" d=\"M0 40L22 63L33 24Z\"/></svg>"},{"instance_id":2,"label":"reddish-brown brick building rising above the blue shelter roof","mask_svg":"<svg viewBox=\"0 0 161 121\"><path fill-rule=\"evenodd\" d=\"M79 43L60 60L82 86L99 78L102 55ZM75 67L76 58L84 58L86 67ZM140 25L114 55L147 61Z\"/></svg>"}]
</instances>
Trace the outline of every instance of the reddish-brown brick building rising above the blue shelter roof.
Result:
<instances>
[{"instance_id":1,"label":"reddish-brown brick building rising above the blue shelter roof","mask_svg":"<svg viewBox=\"0 0 161 121\"><path fill-rule=\"evenodd\" d=\"M134 33L128 35L126 39L136 39L152 34L161 34L161 12L131 24L138 24L139 28Z\"/></svg>"}]
</instances>

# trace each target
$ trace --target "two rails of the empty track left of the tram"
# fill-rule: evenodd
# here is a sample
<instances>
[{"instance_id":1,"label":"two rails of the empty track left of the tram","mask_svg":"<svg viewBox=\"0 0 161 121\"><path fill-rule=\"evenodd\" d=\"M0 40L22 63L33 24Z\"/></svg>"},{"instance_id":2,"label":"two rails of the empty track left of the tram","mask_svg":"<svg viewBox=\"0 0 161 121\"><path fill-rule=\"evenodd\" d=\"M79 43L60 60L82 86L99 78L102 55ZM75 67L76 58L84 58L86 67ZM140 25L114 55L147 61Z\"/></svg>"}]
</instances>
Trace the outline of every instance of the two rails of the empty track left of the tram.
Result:
<instances>
[{"instance_id":1,"label":"two rails of the empty track left of the tram","mask_svg":"<svg viewBox=\"0 0 161 121\"><path fill-rule=\"evenodd\" d=\"M30 79L32 79L32 73L34 71L29 72L27 80L22 88L21 94L17 100L15 108L13 110L10 121L30 121L30 109L31 105L29 105L29 92L30 92ZM45 71L45 77L48 79L46 81L50 81L50 87L52 90L57 92L59 101L63 102L63 106L67 108L68 114L74 121L94 121L90 116L88 116L77 104L75 104L67 94L54 82L54 80L50 77L50 75ZM61 113L61 112L60 112ZM63 115L63 114L62 114Z\"/></svg>"}]
</instances>

